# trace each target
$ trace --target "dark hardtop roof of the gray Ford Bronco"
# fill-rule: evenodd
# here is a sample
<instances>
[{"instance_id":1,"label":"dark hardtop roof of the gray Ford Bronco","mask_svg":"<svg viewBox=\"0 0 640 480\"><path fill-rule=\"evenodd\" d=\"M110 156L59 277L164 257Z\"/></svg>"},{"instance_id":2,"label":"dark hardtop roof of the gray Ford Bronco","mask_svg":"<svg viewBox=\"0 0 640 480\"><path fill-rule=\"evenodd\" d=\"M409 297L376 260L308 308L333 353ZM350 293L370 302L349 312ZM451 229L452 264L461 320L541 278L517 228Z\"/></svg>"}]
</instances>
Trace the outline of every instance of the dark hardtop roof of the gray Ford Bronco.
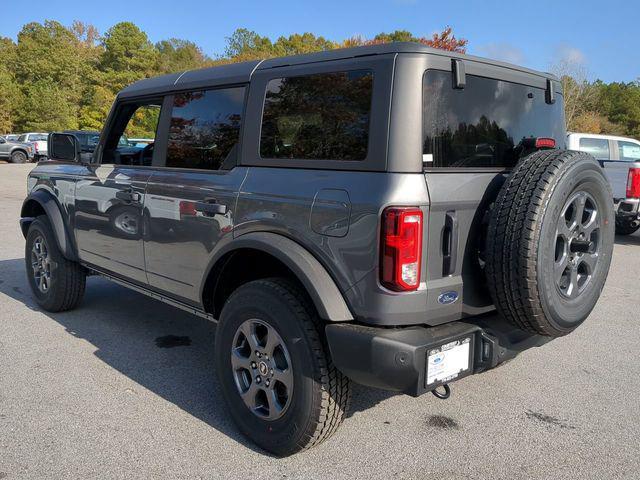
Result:
<instances>
[{"instance_id":1,"label":"dark hardtop roof of the gray Ford Bronco","mask_svg":"<svg viewBox=\"0 0 640 480\"><path fill-rule=\"evenodd\" d=\"M355 57L365 57L372 55L385 55L397 53L424 53L438 55L449 58L459 58L509 68L519 72L535 75L538 77L556 79L550 73L538 72L528 68L520 67L498 60L490 60L462 53L450 52L436 48L427 47L415 42L393 42L380 45L368 45L363 47L340 48L336 50L326 50L304 55L292 55L289 57L270 58L267 60L252 60L242 63L231 63L216 67L203 68L199 70L188 70L182 73L172 73L159 77L147 78L135 82L119 94L120 98L136 97L140 95L151 95L154 93L164 93L165 91L184 90L199 87L215 87L218 85L248 83L251 75L256 70L266 70L270 68L285 67L288 65L301 65L305 63L326 62L330 60L342 60ZM556 79L557 80L557 79Z\"/></svg>"}]
</instances>

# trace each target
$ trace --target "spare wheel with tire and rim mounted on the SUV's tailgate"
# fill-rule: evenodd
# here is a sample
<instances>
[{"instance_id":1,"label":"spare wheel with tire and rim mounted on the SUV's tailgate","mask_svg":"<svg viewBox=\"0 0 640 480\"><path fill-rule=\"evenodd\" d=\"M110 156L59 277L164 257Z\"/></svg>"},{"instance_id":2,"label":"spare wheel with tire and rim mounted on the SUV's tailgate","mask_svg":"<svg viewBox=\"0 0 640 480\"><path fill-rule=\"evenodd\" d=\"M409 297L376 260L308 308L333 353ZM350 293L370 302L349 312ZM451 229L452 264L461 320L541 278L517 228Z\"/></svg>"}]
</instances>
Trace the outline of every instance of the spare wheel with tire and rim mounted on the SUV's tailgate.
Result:
<instances>
[{"instance_id":1,"label":"spare wheel with tire and rim mounted on the SUV's tailgate","mask_svg":"<svg viewBox=\"0 0 640 480\"><path fill-rule=\"evenodd\" d=\"M586 153L542 150L520 160L495 201L485 252L489 291L506 320L558 337L587 318L611 264L612 198Z\"/></svg>"}]
</instances>

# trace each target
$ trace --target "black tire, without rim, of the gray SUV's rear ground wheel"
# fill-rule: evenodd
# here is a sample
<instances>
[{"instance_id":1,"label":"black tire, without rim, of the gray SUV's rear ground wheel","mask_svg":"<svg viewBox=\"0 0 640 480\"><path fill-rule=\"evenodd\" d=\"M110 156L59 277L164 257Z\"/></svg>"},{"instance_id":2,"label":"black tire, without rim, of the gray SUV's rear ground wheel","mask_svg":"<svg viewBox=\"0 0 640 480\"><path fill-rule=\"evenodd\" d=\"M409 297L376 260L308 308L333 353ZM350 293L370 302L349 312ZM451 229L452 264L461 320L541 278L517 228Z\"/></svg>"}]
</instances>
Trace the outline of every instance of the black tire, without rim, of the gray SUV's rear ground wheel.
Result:
<instances>
[{"instance_id":1,"label":"black tire, without rim, of the gray SUV's rear ground wheel","mask_svg":"<svg viewBox=\"0 0 640 480\"><path fill-rule=\"evenodd\" d=\"M293 396L276 420L256 416L243 402L231 368L231 348L239 326L261 319L276 329L293 367ZM292 282L269 278L246 283L226 301L216 330L218 379L238 428L263 449L286 456L311 448L331 436L345 418L349 379L333 366L315 308Z\"/></svg>"}]
</instances>

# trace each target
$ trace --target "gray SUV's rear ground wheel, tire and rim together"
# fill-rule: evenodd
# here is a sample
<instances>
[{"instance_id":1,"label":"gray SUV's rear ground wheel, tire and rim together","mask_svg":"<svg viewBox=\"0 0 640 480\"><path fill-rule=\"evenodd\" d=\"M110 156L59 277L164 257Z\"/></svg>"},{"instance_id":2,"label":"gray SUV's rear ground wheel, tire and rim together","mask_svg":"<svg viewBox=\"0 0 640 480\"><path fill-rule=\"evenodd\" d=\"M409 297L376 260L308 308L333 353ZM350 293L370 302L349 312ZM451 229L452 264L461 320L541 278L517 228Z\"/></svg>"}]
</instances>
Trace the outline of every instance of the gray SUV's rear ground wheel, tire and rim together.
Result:
<instances>
[{"instance_id":1,"label":"gray SUV's rear ground wheel, tire and rim together","mask_svg":"<svg viewBox=\"0 0 640 480\"><path fill-rule=\"evenodd\" d=\"M285 456L328 438L342 423L349 379L331 363L321 323L284 279L249 282L227 300L216 332L216 369L239 429Z\"/></svg>"}]
</instances>

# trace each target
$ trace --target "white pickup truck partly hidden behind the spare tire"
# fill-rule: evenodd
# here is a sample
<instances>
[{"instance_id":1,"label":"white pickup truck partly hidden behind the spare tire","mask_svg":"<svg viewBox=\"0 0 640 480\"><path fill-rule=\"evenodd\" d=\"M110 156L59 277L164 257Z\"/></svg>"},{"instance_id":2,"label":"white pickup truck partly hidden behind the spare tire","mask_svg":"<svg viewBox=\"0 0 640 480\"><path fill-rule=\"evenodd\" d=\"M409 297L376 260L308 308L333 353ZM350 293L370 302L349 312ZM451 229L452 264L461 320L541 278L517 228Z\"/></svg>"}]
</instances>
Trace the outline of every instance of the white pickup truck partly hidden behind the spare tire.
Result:
<instances>
[{"instance_id":1,"label":"white pickup truck partly hidden behind the spare tire","mask_svg":"<svg viewBox=\"0 0 640 480\"><path fill-rule=\"evenodd\" d=\"M613 190L616 233L640 229L640 141L590 133L569 133L567 148L593 155L602 165Z\"/></svg>"}]
</instances>

